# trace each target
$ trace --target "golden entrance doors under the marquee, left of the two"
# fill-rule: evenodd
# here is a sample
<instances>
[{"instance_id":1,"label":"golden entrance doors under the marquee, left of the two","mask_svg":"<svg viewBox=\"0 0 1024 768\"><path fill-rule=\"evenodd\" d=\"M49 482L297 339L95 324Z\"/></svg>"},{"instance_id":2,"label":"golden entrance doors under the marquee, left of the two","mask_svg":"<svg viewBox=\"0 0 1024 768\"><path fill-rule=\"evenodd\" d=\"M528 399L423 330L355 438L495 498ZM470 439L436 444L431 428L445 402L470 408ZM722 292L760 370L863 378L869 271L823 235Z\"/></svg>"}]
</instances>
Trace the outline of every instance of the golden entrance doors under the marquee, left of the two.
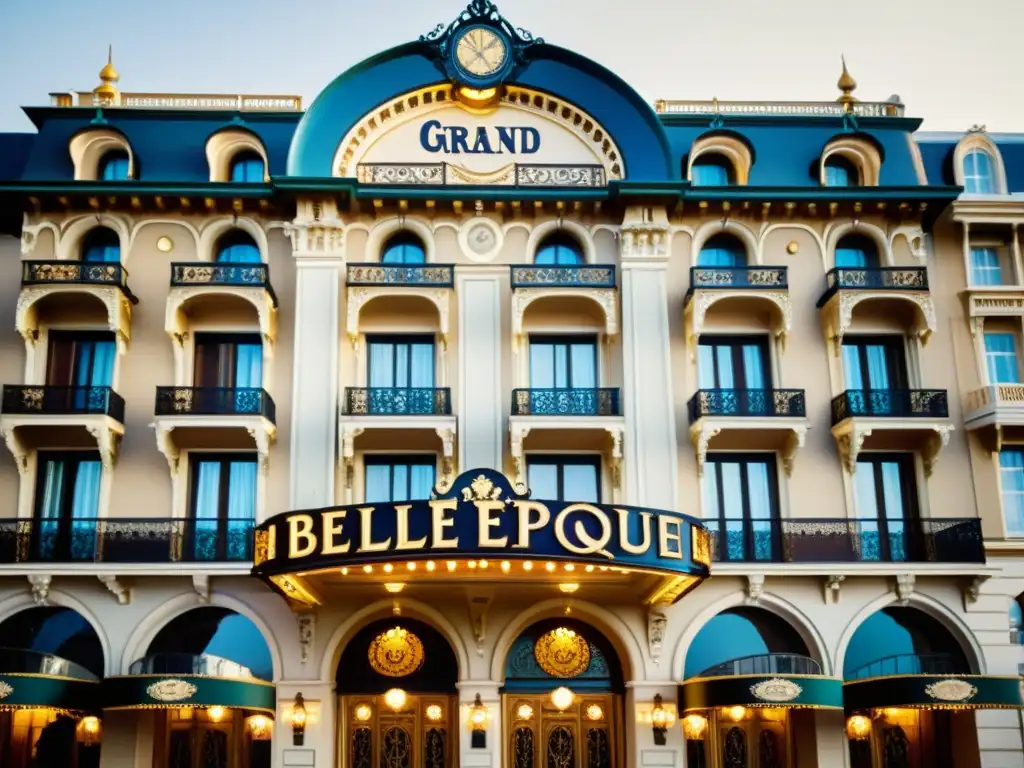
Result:
<instances>
[{"instance_id":1,"label":"golden entrance doors under the marquee, left of the two","mask_svg":"<svg viewBox=\"0 0 1024 768\"><path fill-rule=\"evenodd\" d=\"M455 696L388 694L341 697L342 768L454 768Z\"/></svg>"}]
</instances>

